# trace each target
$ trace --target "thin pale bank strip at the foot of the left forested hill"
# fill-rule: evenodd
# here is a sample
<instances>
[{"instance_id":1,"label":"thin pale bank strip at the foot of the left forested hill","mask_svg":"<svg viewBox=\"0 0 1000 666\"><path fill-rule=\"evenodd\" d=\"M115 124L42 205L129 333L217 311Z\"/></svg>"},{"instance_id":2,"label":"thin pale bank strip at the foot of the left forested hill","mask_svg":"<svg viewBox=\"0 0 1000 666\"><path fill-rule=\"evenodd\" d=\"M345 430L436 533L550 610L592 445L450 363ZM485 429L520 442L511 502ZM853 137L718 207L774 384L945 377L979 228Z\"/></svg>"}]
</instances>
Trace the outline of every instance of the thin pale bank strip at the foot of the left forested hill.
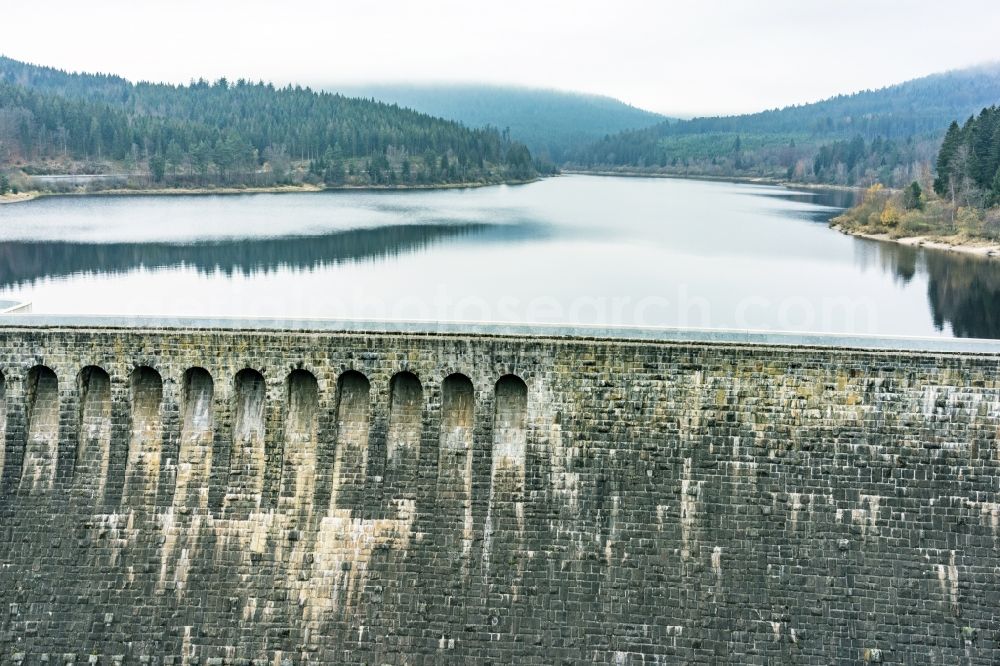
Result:
<instances>
[{"instance_id":1,"label":"thin pale bank strip at the foot of the left forested hill","mask_svg":"<svg viewBox=\"0 0 1000 666\"><path fill-rule=\"evenodd\" d=\"M116 188L94 190L91 192L46 192L32 190L18 194L0 196L0 204L23 203L48 197L112 197L112 196L205 196L205 195L236 195L236 194L315 194L319 192L414 192L434 190L460 190L480 187L495 187L498 185L528 185L542 180L542 177L529 180L510 180L497 183L440 183L436 185L271 185L247 187L160 187L149 189Z\"/></svg>"}]
</instances>

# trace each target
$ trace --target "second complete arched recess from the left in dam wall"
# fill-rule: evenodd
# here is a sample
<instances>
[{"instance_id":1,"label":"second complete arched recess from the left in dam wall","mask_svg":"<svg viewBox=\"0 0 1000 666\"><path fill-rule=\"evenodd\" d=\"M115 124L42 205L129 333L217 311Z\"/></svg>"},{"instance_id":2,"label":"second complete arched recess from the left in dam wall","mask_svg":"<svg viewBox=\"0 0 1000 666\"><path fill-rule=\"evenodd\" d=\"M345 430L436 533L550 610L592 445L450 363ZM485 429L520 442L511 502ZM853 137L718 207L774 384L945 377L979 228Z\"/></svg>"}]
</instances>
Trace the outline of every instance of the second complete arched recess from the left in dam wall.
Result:
<instances>
[{"instance_id":1,"label":"second complete arched recess from the left in dam wall","mask_svg":"<svg viewBox=\"0 0 1000 666\"><path fill-rule=\"evenodd\" d=\"M111 462L111 378L90 365L77 375L76 387L80 404L73 487L97 501L104 496Z\"/></svg>"}]
</instances>

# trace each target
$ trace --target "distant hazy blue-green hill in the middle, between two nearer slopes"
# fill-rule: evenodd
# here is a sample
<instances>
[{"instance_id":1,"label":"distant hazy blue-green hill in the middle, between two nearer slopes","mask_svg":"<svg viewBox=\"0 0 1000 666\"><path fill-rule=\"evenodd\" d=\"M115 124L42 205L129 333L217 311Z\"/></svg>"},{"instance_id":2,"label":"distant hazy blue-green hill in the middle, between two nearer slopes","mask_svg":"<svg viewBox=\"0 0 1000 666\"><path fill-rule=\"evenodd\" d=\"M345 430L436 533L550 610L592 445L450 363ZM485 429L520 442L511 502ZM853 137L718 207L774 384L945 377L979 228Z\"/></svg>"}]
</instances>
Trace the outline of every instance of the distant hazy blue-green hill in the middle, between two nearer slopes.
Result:
<instances>
[{"instance_id":1,"label":"distant hazy blue-green hill in the middle, between two nearer slopes","mask_svg":"<svg viewBox=\"0 0 1000 666\"><path fill-rule=\"evenodd\" d=\"M371 97L468 127L509 129L532 154L554 164L607 134L670 122L663 116L611 97L514 86L373 84L329 86L351 96Z\"/></svg>"}]
</instances>

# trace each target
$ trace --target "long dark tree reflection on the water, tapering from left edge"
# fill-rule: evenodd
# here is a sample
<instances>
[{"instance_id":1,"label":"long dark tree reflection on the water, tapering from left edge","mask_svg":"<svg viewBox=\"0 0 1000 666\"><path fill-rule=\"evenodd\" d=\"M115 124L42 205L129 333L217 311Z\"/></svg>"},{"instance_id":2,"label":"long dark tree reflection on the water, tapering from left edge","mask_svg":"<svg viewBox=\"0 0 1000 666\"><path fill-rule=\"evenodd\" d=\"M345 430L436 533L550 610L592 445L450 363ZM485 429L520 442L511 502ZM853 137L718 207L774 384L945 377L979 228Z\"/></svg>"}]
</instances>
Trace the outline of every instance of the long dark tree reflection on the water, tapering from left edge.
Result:
<instances>
[{"instance_id":1,"label":"long dark tree reflection on the water, tapering from left edge","mask_svg":"<svg viewBox=\"0 0 1000 666\"><path fill-rule=\"evenodd\" d=\"M197 243L0 243L0 288L81 273L115 274L138 268L194 267L201 272L251 275L277 268L317 268L371 261L476 236L510 241L538 235L530 224L406 224L350 229L323 236L226 239Z\"/></svg>"}]
</instances>

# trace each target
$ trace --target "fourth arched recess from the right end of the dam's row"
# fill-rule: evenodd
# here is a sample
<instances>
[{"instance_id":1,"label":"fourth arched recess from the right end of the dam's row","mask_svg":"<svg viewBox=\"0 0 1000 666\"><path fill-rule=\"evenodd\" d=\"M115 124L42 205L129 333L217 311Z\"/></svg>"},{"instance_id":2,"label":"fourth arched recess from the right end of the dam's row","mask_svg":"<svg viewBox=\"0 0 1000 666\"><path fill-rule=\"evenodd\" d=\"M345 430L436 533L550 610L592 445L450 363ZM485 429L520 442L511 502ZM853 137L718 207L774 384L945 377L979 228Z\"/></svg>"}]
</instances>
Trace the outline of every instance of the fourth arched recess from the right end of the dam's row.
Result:
<instances>
[{"instance_id":1,"label":"fourth arched recess from the right end of the dam's row","mask_svg":"<svg viewBox=\"0 0 1000 666\"><path fill-rule=\"evenodd\" d=\"M355 370L337 382L337 448L333 456L331 509L357 509L365 490L371 384Z\"/></svg>"}]
</instances>

